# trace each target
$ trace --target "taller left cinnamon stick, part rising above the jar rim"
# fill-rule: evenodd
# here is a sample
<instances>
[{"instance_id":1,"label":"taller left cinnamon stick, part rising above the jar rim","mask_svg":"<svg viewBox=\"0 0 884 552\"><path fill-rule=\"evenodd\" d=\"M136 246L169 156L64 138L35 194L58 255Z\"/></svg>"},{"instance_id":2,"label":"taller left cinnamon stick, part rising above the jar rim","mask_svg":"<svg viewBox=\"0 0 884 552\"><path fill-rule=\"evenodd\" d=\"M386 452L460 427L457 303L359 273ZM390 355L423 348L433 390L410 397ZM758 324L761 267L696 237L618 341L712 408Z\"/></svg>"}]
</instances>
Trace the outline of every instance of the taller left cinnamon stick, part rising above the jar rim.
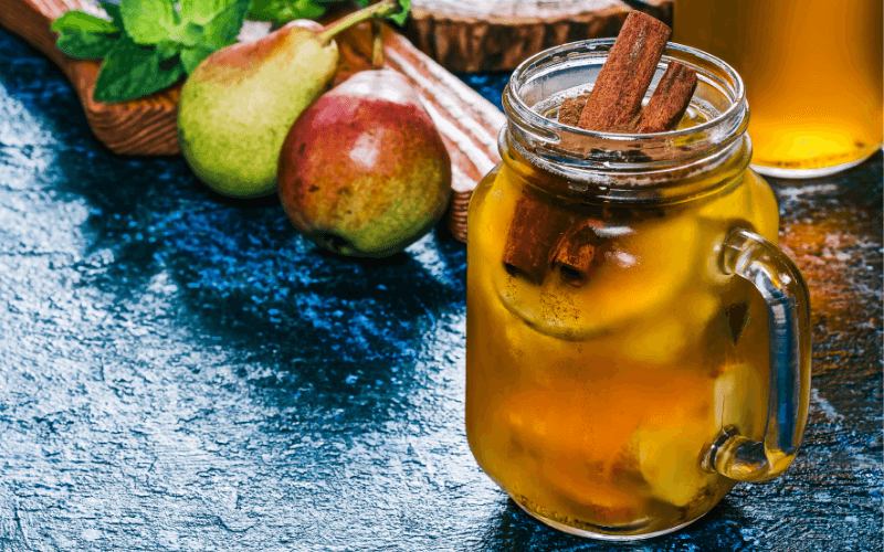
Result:
<instances>
[{"instance_id":1,"label":"taller left cinnamon stick, part rising above the jar rim","mask_svg":"<svg viewBox=\"0 0 884 552\"><path fill-rule=\"evenodd\" d=\"M630 12L580 114L580 128L633 128L671 33L662 21L640 11Z\"/></svg>"}]
</instances>

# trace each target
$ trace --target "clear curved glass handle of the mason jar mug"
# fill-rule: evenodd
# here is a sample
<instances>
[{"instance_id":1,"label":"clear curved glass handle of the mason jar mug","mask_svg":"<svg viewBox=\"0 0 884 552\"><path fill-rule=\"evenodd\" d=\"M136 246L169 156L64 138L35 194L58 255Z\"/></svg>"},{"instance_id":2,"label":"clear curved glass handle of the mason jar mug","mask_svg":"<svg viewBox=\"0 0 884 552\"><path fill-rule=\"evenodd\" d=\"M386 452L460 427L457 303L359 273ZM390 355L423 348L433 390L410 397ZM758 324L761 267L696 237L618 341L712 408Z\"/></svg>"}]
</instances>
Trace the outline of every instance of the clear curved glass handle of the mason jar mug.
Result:
<instances>
[{"instance_id":1,"label":"clear curved glass handle of the mason jar mug","mask_svg":"<svg viewBox=\"0 0 884 552\"><path fill-rule=\"evenodd\" d=\"M720 267L753 283L767 302L770 390L764 442L735 426L722 428L702 460L704 469L738 481L780 475L801 444L810 403L810 294L789 256L768 240L734 229L722 246Z\"/></svg>"}]
</instances>

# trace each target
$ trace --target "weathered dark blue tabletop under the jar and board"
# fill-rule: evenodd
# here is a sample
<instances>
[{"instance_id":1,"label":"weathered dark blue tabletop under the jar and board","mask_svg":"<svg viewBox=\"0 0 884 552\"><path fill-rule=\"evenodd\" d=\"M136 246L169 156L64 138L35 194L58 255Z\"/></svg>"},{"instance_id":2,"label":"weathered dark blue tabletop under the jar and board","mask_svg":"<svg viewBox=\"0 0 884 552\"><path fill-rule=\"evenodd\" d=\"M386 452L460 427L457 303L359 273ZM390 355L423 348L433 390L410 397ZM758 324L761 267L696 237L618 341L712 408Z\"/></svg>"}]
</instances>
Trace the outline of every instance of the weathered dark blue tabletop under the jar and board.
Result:
<instances>
[{"instance_id":1,"label":"weathered dark blue tabletop under the jar and board","mask_svg":"<svg viewBox=\"0 0 884 552\"><path fill-rule=\"evenodd\" d=\"M539 526L473 463L465 251L444 230L334 257L275 201L108 152L2 30L0 60L0 551L881 550L881 153L776 183L814 301L788 475L611 545Z\"/></svg>"}]
</instances>

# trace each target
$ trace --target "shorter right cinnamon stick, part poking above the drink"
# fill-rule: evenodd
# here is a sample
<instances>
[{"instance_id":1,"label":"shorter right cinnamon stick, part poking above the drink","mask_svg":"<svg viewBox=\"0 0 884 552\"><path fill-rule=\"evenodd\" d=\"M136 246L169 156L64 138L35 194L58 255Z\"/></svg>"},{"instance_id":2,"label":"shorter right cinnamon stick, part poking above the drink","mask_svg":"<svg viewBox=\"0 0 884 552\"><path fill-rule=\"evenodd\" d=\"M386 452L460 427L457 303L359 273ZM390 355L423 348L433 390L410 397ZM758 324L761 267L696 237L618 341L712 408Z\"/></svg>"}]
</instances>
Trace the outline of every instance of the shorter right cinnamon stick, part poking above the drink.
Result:
<instances>
[{"instance_id":1,"label":"shorter right cinnamon stick, part poking above the drink","mask_svg":"<svg viewBox=\"0 0 884 552\"><path fill-rule=\"evenodd\" d=\"M642 110L635 131L664 132L678 126L696 87L696 72L678 62L671 62Z\"/></svg>"}]
</instances>

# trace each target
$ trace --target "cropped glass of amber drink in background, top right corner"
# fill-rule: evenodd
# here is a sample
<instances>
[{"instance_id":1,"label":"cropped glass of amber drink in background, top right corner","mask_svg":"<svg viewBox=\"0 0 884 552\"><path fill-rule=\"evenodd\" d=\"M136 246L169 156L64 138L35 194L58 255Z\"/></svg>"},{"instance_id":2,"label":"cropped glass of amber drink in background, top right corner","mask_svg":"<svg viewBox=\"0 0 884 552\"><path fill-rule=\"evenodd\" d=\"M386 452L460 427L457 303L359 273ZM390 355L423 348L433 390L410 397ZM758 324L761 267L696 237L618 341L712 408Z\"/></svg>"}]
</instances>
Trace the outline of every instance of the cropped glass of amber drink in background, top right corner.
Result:
<instances>
[{"instance_id":1,"label":"cropped glass of amber drink in background, top right corner","mask_svg":"<svg viewBox=\"0 0 884 552\"><path fill-rule=\"evenodd\" d=\"M882 145L881 0L676 0L672 41L737 70L753 163L850 166Z\"/></svg>"}]
</instances>

